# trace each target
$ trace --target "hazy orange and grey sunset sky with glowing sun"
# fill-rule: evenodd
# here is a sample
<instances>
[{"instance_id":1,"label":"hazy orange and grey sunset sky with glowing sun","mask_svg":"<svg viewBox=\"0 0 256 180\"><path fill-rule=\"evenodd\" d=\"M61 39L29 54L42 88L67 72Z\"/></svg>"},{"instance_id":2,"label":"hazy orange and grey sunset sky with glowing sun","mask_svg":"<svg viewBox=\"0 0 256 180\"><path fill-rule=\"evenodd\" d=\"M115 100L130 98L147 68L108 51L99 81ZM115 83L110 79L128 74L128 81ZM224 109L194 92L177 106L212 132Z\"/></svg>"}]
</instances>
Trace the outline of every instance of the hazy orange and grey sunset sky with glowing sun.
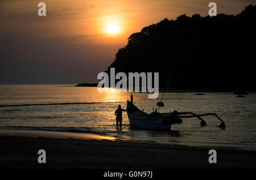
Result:
<instances>
[{"instance_id":1,"label":"hazy orange and grey sunset sky with glowing sun","mask_svg":"<svg viewBox=\"0 0 256 180\"><path fill-rule=\"evenodd\" d=\"M44 17L38 16L39 2L46 3L46 16ZM35 67L38 63L41 63L40 67L43 67L47 62L51 62L45 67L45 71L50 72L51 68L56 70L56 67L59 66L60 60L57 59L62 58L67 64L72 59L72 63L77 67L90 67L90 71L94 73L92 75L88 71L88 74L77 74L73 79L83 75L86 76L85 81L93 82L92 78L98 71L106 70L114 60L115 53L126 45L127 38L132 33L139 32L143 27L158 23L164 18L175 20L181 14L207 16L209 2L211 1L0 0L0 38L2 40L0 48L2 51L5 50L2 52L2 59L4 59L2 61L5 61L2 67L7 65L7 61L13 61L14 64L22 61L21 65L30 62L30 67ZM217 14L236 15L245 6L255 5L255 0L218 0L214 2L217 3ZM26 41L25 44L24 41ZM35 60L39 48L44 51L44 60ZM13 50L13 53L22 52L23 56L11 57L10 49ZM68 54L67 50L71 53ZM53 55L53 52L60 54ZM66 54L61 55L64 52ZM31 64L34 61L38 61L38 63ZM99 62L100 66L98 66ZM53 67L49 68L49 66ZM64 64L59 71L75 72ZM64 72L59 76L61 77ZM31 74L27 75L28 79ZM56 74L57 72L51 72L51 75L48 76ZM58 81L57 79L56 81ZM5 80L0 79L1 82L5 82Z\"/></svg>"}]
</instances>

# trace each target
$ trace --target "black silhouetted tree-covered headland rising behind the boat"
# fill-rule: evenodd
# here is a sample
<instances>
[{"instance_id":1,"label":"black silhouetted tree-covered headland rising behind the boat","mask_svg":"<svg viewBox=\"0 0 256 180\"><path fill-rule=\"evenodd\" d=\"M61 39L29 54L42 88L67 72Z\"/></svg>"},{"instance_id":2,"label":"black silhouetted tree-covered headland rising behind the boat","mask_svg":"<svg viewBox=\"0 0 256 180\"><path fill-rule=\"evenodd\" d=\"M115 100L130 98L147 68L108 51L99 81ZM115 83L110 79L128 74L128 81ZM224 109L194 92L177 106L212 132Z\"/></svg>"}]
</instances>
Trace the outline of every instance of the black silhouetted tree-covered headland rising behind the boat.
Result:
<instances>
[{"instance_id":1,"label":"black silhouetted tree-covered headland rising behind the boat","mask_svg":"<svg viewBox=\"0 0 256 180\"><path fill-rule=\"evenodd\" d=\"M240 14L180 15L133 33L108 67L118 72L159 72L175 89L255 89L256 6Z\"/></svg>"}]
</instances>

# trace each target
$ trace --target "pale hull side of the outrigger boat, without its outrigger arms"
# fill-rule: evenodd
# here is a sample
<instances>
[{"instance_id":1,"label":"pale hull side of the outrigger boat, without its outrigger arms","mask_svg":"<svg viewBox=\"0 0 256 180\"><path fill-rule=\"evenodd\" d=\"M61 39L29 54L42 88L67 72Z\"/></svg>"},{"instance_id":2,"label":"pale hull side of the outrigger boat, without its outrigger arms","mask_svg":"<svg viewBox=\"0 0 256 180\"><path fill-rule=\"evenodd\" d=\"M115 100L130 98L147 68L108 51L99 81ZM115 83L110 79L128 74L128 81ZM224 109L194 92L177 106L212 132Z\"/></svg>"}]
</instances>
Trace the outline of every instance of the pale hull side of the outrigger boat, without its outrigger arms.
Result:
<instances>
[{"instance_id":1,"label":"pale hull side of the outrigger boat, without its outrigger arms","mask_svg":"<svg viewBox=\"0 0 256 180\"><path fill-rule=\"evenodd\" d=\"M139 119L128 114L130 126L148 130L170 130L171 125L164 124L162 119Z\"/></svg>"}]
</instances>

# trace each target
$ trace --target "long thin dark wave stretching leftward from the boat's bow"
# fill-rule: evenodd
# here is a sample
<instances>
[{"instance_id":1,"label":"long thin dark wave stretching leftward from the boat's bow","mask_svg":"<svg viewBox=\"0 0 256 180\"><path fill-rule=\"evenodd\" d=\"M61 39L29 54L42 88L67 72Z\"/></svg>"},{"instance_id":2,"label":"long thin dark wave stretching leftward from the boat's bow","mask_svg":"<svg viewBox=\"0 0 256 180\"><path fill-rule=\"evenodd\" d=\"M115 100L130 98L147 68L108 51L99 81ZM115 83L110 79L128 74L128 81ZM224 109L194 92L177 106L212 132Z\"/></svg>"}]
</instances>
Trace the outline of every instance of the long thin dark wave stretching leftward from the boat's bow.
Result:
<instances>
[{"instance_id":1,"label":"long thin dark wave stretching leftward from the boat's bow","mask_svg":"<svg viewBox=\"0 0 256 180\"><path fill-rule=\"evenodd\" d=\"M0 105L0 108L18 107L18 106L51 106L51 105L104 104L104 103L124 103L124 102L62 102L62 103L43 103L43 104L14 104L14 105Z\"/></svg>"}]
</instances>

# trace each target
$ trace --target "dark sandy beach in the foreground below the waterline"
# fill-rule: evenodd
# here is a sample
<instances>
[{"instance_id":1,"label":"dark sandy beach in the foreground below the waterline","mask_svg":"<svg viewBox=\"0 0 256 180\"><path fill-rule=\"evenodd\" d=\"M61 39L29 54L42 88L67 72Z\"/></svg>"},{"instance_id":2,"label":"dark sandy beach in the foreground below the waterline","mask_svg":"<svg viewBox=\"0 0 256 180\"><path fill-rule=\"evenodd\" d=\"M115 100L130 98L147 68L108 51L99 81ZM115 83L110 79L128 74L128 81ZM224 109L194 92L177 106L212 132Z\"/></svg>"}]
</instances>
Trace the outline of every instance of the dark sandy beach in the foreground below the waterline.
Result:
<instances>
[{"instance_id":1,"label":"dark sandy beach in the foreground below the waterline","mask_svg":"<svg viewBox=\"0 0 256 180\"><path fill-rule=\"evenodd\" d=\"M217 163L209 164L210 148L37 135L0 135L0 168L154 168L212 169L256 168L256 152L237 149L217 151ZM16 131L18 133L18 131ZM46 132L47 134L48 132ZM9 133L10 134L10 133ZM68 134L68 135L67 135ZM48 134L49 135L49 134ZM73 134L74 135L74 134ZM98 139L101 139L98 136ZM38 150L46 150L47 163L38 163Z\"/></svg>"}]
</instances>

